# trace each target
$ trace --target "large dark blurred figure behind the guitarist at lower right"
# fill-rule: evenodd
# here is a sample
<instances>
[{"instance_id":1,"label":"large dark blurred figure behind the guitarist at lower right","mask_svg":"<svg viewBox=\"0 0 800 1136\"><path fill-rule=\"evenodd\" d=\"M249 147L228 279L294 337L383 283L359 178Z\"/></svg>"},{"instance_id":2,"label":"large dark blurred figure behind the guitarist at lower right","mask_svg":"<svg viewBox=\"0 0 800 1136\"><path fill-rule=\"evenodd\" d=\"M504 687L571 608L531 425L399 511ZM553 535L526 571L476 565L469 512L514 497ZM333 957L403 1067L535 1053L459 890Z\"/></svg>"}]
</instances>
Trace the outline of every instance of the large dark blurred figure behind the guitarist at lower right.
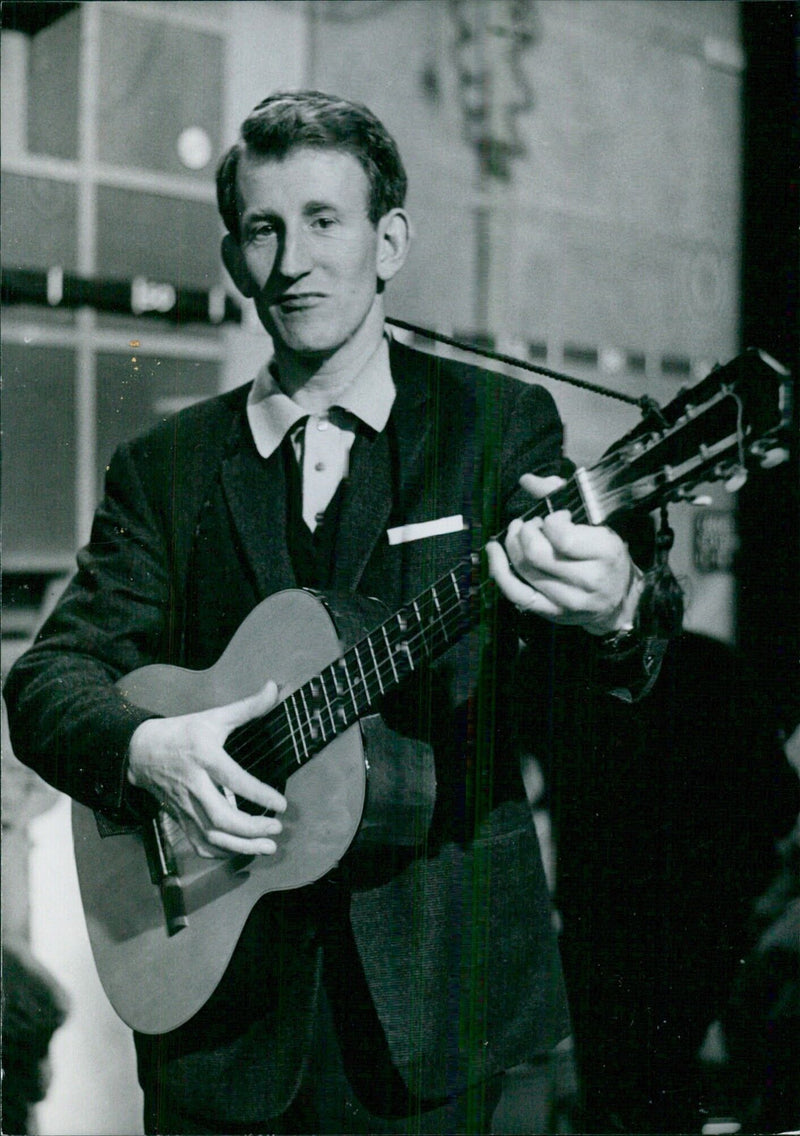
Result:
<instances>
[{"instance_id":1,"label":"large dark blurred figure behind the guitarist at lower right","mask_svg":"<svg viewBox=\"0 0 800 1136\"><path fill-rule=\"evenodd\" d=\"M585 688L569 710L562 693L531 733L556 845L580 1130L699 1133L735 1116L743 1130L777 1131L765 1093L795 1127L797 902L784 893L793 878L797 895L797 849L794 877L780 850L794 846L800 783L768 692L739 652L683 633L635 719ZM706 1063L715 1022L723 1044Z\"/></svg>"}]
</instances>

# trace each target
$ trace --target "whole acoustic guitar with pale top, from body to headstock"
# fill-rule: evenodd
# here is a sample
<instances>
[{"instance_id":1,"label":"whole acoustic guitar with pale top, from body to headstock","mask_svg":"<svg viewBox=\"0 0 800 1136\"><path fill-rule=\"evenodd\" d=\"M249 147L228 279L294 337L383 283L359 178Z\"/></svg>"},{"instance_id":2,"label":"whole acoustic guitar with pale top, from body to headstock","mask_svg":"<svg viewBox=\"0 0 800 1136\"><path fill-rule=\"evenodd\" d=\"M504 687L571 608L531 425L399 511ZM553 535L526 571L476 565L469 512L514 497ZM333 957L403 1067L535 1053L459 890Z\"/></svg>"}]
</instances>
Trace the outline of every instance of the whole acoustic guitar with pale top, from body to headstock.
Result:
<instances>
[{"instance_id":1,"label":"whole acoustic guitar with pale top, from body to headstock","mask_svg":"<svg viewBox=\"0 0 800 1136\"><path fill-rule=\"evenodd\" d=\"M575 521L598 525L691 499L703 482L734 487L749 465L786 459L790 393L788 373L749 350L657 409L525 518L567 508ZM280 592L253 609L208 670L153 665L119 682L136 705L172 716L223 705L275 679L281 701L238 727L226 749L284 787L289 802L276 854L213 860L197 855L163 810L141 828L101 835L108 827L74 804L94 961L131 1027L165 1033L192 1017L266 893L322 878L351 846L422 841L435 801L432 755L420 744L409 747L408 760L385 759L369 743L375 708L476 621L493 587L477 559L467 558L390 615L356 596Z\"/></svg>"}]
</instances>

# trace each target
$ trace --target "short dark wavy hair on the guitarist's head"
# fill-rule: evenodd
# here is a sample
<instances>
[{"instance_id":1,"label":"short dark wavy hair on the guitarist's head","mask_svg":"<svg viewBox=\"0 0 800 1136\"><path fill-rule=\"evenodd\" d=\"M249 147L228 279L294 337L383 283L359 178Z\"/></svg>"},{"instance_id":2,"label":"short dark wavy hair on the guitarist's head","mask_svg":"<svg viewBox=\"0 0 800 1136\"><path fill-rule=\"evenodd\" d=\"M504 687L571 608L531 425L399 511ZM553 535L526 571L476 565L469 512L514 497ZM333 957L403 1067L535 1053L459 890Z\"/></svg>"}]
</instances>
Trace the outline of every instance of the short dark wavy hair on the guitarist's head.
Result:
<instances>
[{"instance_id":1,"label":"short dark wavy hair on the guitarist's head","mask_svg":"<svg viewBox=\"0 0 800 1136\"><path fill-rule=\"evenodd\" d=\"M281 159L299 147L342 150L360 162L369 182L367 211L373 225L390 209L402 207L408 178L400 151L372 110L322 91L280 91L250 111L239 140L217 167L217 206L226 229L236 241L240 239L239 159L243 153Z\"/></svg>"}]
</instances>

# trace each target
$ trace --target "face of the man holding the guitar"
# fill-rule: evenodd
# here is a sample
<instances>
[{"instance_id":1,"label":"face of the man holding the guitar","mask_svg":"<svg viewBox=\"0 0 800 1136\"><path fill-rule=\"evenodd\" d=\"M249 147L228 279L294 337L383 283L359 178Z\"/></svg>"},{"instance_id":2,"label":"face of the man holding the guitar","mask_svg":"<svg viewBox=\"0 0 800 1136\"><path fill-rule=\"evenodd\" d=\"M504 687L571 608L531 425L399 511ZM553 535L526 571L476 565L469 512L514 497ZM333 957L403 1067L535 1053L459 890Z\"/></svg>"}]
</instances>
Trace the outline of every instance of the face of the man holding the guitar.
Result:
<instances>
[{"instance_id":1,"label":"face of the man holding the guitar","mask_svg":"<svg viewBox=\"0 0 800 1136\"><path fill-rule=\"evenodd\" d=\"M280 160L245 153L238 190L239 287L276 349L334 354L377 291L381 226L367 216L367 175L339 150L302 148Z\"/></svg>"}]
</instances>

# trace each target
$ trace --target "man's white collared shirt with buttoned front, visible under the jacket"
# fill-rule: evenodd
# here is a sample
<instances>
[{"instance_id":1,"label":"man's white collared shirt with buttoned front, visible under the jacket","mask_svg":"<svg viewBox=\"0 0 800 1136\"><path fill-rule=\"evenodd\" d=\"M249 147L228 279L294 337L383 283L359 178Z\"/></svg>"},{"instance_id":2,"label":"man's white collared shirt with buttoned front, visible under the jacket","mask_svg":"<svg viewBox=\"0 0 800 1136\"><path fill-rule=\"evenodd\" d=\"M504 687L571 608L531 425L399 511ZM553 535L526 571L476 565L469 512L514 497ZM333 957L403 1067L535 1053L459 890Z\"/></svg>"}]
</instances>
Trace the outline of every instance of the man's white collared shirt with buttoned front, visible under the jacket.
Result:
<instances>
[{"instance_id":1,"label":"man's white collared shirt with buttoned front, visible under the jacket","mask_svg":"<svg viewBox=\"0 0 800 1136\"><path fill-rule=\"evenodd\" d=\"M309 415L281 390L273 360L256 376L247 404L256 449L269 458L291 433L302 478L302 516L311 532L348 476L355 419L380 433L389 421L394 393L385 335L336 404L324 414Z\"/></svg>"}]
</instances>

